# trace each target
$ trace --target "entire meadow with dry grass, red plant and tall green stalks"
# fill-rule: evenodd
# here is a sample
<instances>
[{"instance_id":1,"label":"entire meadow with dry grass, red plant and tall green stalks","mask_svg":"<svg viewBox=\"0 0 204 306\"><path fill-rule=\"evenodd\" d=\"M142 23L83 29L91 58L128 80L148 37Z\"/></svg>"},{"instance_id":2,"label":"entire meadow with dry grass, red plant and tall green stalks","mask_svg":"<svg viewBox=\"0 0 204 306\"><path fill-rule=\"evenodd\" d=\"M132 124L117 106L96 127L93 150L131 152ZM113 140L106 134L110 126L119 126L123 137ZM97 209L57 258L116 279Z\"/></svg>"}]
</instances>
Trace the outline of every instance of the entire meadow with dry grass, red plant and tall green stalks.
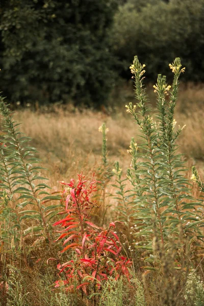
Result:
<instances>
[{"instance_id":1,"label":"entire meadow with dry grass, red plant and tall green stalks","mask_svg":"<svg viewBox=\"0 0 204 306\"><path fill-rule=\"evenodd\" d=\"M131 67L101 111L1 100L1 306L203 304L204 89Z\"/></svg>"}]
</instances>

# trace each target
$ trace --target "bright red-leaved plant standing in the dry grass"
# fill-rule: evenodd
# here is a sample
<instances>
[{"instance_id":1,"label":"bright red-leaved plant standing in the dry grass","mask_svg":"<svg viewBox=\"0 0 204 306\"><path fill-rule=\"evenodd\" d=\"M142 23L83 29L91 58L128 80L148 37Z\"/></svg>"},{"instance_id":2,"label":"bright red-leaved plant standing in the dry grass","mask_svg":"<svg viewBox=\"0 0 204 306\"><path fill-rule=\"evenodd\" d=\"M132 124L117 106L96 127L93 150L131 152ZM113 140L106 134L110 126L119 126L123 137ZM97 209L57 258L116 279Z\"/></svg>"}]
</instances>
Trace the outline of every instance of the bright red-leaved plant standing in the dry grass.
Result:
<instances>
[{"instance_id":1,"label":"bright red-leaved plant standing in the dry grass","mask_svg":"<svg viewBox=\"0 0 204 306\"><path fill-rule=\"evenodd\" d=\"M66 216L53 224L63 227L63 230L56 231L61 234L56 241L65 239L61 252L74 249L76 256L58 264L59 275L64 274L64 280L57 281L55 287L63 284L67 290L81 289L83 295L83 292L89 294L91 290L99 290L110 275L115 279L125 275L129 279L128 267L132 262L120 254L122 246L116 232L113 232L115 222L111 222L105 230L89 221L91 210L96 206L91 197L96 191L95 183L100 182L93 178L88 182L82 174L78 176L76 187L74 180L69 184L60 182L68 189L63 190L65 211L59 213Z\"/></svg>"}]
</instances>

